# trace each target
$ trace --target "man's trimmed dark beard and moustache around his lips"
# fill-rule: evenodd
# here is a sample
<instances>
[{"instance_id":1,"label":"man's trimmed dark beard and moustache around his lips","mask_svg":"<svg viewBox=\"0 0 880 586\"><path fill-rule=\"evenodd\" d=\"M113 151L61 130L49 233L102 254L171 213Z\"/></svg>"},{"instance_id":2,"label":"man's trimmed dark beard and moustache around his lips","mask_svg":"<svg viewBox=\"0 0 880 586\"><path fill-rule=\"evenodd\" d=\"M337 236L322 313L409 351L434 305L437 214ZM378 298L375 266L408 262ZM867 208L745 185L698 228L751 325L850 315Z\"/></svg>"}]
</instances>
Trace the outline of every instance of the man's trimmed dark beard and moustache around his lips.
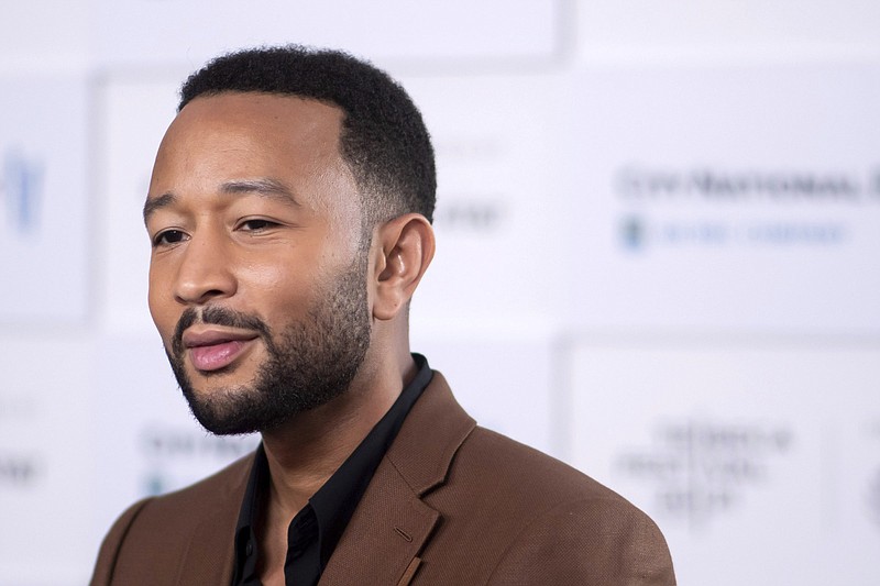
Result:
<instances>
[{"instance_id":1,"label":"man's trimmed dark beard and moustache around his lips","mask_svg":"<svg viewBox=\"0 0 880 586\"><path fill-rule=\"evenodd\" d=\"M175 329L170 352L174 375L189 409L201 425L218 435L270 431L304 411L342 395L351 385L370 346L366 255L320 287L306 317L277 336L256 316L209 306L201 314L187 308ZM245 385L198 394L185 368L184 331L208 323L255 331L267 358ZM234 366L230 366L232 368ZM227 368L206 376L222 376Z\"/></svg>"}]
</instances>

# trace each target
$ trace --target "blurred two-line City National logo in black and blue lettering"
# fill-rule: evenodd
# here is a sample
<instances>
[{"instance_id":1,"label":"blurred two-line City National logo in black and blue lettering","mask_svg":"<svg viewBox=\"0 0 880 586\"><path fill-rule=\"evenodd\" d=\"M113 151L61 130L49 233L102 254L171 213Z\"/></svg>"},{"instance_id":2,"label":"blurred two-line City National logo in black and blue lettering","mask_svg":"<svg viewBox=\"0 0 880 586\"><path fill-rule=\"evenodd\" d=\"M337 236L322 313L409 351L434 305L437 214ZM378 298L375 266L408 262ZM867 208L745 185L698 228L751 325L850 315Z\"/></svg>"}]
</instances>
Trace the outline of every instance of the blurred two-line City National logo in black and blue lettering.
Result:
<instances>
[{"instance_id":1,"label":"blurred two-line City National logo in black and blue lettering","mask_svg":"<svg viewBox=\"0 0 880 586\"><path fill-rule=\"evenodd\" d=\"M701 208L693 206L711 204L715 211L755 202L772 203L780 209L809 206L818 212L842 207L860 209L866 204L877 204L880 209L880 170L858 175L627 166L615 175L614 190L622 201L640 206L640 213L626 213L619 222L619 241L626 250L641 251L648 245L828 246L842 244L849 236L849 226L839 217L818 220L755 217L733 221L724 215L696 218L693 213ZM678 211L684 209L690 218L676 214L675 219L657 219L647 213L649 209L656 211L658 206L669 204L676 206Z\"/></svg>"}]
</instances>

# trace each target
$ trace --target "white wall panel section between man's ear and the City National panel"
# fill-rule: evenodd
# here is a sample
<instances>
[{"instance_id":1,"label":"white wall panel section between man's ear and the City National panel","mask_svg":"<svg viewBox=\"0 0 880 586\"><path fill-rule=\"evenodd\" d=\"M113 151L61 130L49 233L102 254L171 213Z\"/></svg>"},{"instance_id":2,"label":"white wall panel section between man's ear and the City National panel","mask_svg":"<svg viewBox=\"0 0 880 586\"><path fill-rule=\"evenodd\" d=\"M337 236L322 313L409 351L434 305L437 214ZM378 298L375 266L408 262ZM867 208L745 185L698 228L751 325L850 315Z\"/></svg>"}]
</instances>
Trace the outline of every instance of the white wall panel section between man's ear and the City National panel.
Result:
<instances>
[{"instance_id":1,"label":"white wall panel section between man's ear and the City National panel","mask_svg":"<svg viewBox=\"0 0 880 586\"><path fill-rule=\"evenodd\" d=\"M437 150L437 255L415 328L538 330L557 314L562 242L554 76L404 80ZM419 308L425 308L420 310Z\"/></svg>"}]
</instances>

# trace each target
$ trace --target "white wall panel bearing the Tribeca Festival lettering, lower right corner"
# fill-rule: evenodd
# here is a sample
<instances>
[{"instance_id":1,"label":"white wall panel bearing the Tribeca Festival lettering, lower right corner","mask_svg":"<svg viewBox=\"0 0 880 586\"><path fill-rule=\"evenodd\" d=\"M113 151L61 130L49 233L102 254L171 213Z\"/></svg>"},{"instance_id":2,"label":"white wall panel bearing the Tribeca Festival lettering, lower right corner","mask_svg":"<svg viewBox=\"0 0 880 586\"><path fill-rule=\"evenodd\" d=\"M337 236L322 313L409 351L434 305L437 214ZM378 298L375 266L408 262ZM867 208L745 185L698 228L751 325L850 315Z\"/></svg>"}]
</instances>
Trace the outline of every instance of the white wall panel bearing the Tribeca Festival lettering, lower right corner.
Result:
<instances>
[{"instance_id":1,"label":"white wall panel bearing the Tribeca Festival lettering, lower right corner","mask_svg":"<svg viewBox=\"0 0 880 586\"><path fill-rule=\"evenodd\" d=\"M572 462L657 520L682 584L880 579L876 346L632 339L571 360Z\"/></svg>"}]
</instances>

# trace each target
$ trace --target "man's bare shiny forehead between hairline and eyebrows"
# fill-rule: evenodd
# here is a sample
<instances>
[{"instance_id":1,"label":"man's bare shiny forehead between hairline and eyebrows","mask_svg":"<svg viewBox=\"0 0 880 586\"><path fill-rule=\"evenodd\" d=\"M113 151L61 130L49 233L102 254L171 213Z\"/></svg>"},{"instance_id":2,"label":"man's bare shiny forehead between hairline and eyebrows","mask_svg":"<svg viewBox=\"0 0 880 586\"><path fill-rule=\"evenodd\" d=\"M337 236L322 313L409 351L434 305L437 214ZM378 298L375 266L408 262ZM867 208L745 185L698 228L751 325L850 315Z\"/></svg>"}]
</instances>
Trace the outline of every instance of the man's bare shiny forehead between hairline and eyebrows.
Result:
<instances>
[{"instance_id":1,"label":"man's bare shiny forehead between hairline and eyebrows","mask_svg":"<svg viewBox=\"0 0 880 586\"><path fill-rule=\"evenodd\" d=\"M354 178L340 155L344 114L311 99L227 92L199 97L172 122L160 145L150 198L210 192L235 180L289 185L316 204L355 204ZM356 199L356 197L355 197ZM360 207L360 206L358 206Z\"/></svg>"}]
</instances>

